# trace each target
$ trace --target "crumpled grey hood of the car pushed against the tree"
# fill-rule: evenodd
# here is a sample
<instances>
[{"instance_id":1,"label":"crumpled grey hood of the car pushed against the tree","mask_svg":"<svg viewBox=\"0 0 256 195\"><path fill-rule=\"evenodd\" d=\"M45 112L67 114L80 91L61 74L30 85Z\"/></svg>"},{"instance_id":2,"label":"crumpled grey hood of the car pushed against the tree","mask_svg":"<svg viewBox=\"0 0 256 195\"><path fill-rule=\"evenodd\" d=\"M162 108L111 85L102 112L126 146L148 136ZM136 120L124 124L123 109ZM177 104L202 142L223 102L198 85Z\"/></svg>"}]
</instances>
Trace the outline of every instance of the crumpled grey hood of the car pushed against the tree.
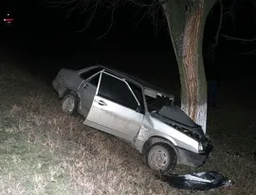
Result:
<instances>
[{"instance_id":1,"label":"crumpled grey hood of the car pushed against the tree","mask_svg":"<svg viewBox=\"0 0 256 195\"><path fill-rule=\"evenodd\" d=\"M202 127L196 124L189 115L186 115L178 106L163 106L153 117L162 122L172 123L200 135L204 135Z\"/></svg>"}]
</instances>

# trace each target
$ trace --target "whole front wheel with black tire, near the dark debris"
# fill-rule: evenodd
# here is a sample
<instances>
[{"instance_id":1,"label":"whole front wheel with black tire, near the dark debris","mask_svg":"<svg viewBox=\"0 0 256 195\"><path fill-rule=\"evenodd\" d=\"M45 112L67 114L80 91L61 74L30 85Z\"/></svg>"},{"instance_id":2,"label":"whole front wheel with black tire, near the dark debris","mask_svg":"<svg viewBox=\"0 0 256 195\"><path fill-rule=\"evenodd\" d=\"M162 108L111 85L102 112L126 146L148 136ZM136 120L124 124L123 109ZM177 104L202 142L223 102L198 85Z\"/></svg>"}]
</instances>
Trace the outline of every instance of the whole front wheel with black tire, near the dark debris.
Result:
<instances>
[{"instance_id":1,"label":"whole front wheel with black tire, near the dark debris","mask_svg":"<svg viewBox=\"0 0 256 195\"><path fill-rule=\"evenodd\" d=\"M161 174L172 173L177 164L177 154L167 143L150 144L143 152L144 161L149 168Z\"/></svg>"}]
</instances>

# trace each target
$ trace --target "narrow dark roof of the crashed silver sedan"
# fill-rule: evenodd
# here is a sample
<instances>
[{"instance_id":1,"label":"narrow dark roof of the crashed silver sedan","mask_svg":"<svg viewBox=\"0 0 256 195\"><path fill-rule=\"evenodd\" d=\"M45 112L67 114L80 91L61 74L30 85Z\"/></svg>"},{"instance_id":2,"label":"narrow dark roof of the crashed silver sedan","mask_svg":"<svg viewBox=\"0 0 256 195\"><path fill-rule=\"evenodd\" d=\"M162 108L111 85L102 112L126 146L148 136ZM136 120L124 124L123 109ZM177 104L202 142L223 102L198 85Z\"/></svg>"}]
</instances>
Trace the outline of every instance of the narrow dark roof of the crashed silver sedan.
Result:
<instances>
[{"instance_id":1,"label":"narrow dark roof of the crashed silver sedan","mask_svg":"<svg viewBox=\"0 0 256 195\"><path fill-rule=\"evenodd\" d=\"M144 89L146 88L148 90L155 91L155 92L160 93L160 94L162 94L164 96L167 96L167 97L174 97L169 92L167 92L166 90L164 90L164 89L162 89L162 88L160 88L158 86L155 86L155 85L153 85L153 84L151 84L151 83L149 83L149 82L147 82L145 80L140 80L137 77L128 75L128 74L123 73L123 72L121 72L119 70L116 70L114 68L108 68L108 67L106 67L104 65L101 65L101 64L93 65L93 66L90 66L90 67L91 68L93 68L93 67L101 67L101 68L105 69L106 71L108 71L109 73L112 73L112 74L114 74L116 76L119 76L119 77L121 77L121 78L123 78L125 80L130 80L132 82L137 83L137 85L140 85Z\"/></svg>"}]
</instances>

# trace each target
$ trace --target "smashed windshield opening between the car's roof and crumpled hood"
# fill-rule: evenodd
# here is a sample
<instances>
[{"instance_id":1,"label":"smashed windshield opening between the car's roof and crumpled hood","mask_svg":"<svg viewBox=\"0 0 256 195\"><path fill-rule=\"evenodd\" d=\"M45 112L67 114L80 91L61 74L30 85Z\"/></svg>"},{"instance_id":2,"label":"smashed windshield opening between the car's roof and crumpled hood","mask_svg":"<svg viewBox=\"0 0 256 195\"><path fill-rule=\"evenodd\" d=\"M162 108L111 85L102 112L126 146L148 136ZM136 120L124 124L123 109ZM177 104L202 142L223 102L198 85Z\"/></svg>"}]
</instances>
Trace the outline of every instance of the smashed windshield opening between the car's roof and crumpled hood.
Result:
<instances>
[{"instance_id":1,"label":"smashed windshield opening between the car's roof and crumpled hood","mask_svg":"<svg viewBox=\"0 0 256 195\"><path fill-rule=\"evenodd\" d=\"M154 91L145 90L145 97L149 113L158 112L163 106L171 106L174 103L173 97L166 97Z\"/></svg>"}]
</instances>

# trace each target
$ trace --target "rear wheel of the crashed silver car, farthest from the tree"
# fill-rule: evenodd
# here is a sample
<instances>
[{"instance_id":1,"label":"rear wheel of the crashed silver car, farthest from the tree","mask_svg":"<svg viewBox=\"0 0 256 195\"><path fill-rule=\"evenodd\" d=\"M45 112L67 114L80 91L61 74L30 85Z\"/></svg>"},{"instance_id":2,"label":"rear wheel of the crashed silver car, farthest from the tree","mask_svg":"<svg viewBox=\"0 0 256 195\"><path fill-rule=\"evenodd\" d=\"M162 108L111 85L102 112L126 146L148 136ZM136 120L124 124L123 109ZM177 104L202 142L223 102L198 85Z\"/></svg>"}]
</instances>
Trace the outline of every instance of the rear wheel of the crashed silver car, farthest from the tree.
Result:
<instances>
[{"instance_id":1,"label":"rear wheel of the crashed silver car, farthest from the tree","mask_svg":"<svg viewBox=\"0 0 256 195\"><path fill-rule=\"evenodd\" d=\"M77 115L78 98L73 94L64 96L62 100L62 110L67 115Z\"/></svg>"}]
</instances>

